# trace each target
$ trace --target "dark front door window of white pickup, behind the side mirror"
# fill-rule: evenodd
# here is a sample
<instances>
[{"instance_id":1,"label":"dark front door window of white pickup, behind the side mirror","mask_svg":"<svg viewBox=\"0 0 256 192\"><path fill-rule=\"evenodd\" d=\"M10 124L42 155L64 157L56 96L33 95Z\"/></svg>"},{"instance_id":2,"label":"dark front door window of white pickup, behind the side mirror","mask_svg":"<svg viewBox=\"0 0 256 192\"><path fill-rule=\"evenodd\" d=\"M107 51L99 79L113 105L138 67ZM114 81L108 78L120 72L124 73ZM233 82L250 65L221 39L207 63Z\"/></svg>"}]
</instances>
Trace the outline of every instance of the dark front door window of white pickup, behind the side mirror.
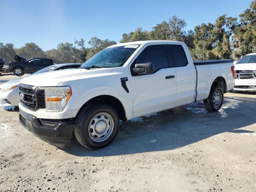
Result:
<instances>
[{"instance_id":1,"label":"dark front door window of white pickup, behind the side mirror","mask_svg":"<svg viewBox=\"0 0 256 192\"><path fill-rule=\"evenodd\" d=\"M146 47L133 62L132 66L139 63L153 63L154 72L169 67L163 45Z\"/></svg>"}]
</instances>

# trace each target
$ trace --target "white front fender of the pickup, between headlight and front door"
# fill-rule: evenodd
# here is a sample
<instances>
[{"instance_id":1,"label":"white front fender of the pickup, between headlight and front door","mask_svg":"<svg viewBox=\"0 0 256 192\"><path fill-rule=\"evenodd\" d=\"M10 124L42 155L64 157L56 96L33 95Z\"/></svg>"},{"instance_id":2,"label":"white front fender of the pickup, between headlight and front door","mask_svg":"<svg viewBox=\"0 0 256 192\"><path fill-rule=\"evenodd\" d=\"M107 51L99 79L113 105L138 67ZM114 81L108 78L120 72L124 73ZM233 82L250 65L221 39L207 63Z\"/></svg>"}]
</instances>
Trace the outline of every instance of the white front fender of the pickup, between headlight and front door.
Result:
<instances>
[{"instance_id":1,"label":"white front fender of the pickup, between headlight and front door","mask_svg":"<svg viewBox=\"0 0 256 192\"><path fill-rule=\"evenodd\" d=\"M67 110L80 109L88 100L101 96L109 95L120 100L126 113L126 118L132 118L132 95L127 93L122 87L120 78L126 77L127 67L118 69L106 76L84 78L69 82L62 82L59 86L71 86L72 96L65 107ZM122 72L120 72L122 71ZM126 82L129 87L130 82Z\"/></svg>"}]
</instances>

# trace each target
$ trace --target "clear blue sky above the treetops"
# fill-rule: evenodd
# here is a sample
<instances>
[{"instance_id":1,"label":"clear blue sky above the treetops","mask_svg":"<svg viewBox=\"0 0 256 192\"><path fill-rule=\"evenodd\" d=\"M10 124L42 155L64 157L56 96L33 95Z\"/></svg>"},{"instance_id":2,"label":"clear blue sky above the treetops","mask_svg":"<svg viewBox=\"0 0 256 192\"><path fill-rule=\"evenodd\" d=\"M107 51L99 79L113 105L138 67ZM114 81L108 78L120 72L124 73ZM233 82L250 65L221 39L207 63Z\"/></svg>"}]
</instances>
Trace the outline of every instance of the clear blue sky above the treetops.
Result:
<instances>
[{"instance_id":1,"label":"clear blue sky above the treetops","mask_svg":"<svg viewBox=\"0 0 256 192\"><path fill-rule=\"evenodd\" d=\"M86 43L97 36L119 42L122 34L176 15L186 30L221 15L238 17L252 0L0 0L0 42L20 48L34 42L42 50L60 42Z\"/></svg>"}]
</instances>

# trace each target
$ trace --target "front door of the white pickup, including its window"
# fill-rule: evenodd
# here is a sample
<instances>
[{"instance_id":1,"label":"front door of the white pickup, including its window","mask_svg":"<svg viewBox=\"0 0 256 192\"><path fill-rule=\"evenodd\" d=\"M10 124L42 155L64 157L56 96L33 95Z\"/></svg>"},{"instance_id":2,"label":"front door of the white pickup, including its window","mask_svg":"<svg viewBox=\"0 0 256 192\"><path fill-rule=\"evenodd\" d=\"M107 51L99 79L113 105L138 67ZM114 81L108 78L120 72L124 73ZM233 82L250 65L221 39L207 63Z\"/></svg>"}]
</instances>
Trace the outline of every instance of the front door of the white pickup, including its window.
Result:
<instances>
[{"instance_id":1,"label":"front door of the white pickup, including its window","mask_svg":"<svg viewBox=\"0 0 256 192\"><path fill-rule=\"evenodd\" d=\"M176 72L169 65L164 44L146 46L134 58L130 70L135 64L148 62L153 63L154 73L139 76L130 73L134 117L176 105Z\"/></svg>"}]
</instances>

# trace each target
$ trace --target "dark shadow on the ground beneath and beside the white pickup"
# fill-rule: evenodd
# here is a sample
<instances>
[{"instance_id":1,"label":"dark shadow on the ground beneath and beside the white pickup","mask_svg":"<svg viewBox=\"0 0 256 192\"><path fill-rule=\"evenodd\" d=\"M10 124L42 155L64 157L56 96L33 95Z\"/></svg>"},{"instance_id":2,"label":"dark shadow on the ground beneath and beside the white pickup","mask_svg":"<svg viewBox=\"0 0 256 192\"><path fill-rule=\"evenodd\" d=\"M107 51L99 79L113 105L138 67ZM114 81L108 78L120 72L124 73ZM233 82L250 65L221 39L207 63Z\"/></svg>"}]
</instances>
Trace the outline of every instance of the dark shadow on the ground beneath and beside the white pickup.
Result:
<instances>
[{"instance_id":1,"label":"dark shadow on the ground beneath and beside the white pickup","mask_svg":"<svg viewBox=\"0 0 256 192\"><path fill-rule=\"evenodd\" d=\"M223 132L243 130L256 123L256 103L225 99L219 112L207 112L202 102L132 119L120 127L117 138L100 150L87 150L76 140L65 152L75 156L116 156L172 150Z\"/></svg>"}]
</instances>

